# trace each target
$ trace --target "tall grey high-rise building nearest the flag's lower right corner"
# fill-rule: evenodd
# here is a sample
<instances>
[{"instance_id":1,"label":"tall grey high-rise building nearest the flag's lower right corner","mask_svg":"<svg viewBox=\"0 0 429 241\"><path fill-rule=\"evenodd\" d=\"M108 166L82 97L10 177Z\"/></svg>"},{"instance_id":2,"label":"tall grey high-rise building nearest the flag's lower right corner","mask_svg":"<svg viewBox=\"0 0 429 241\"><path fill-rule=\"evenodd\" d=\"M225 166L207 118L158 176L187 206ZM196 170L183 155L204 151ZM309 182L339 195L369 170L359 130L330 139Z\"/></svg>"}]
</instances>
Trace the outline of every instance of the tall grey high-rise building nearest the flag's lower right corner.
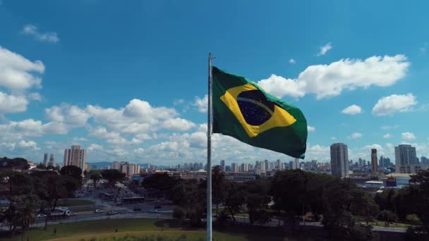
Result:
<instances>
[{"instance_id":1,"label":"tall grey high-rise building nearest the flag's lower right corner","mask_svg":"<svg viewBox=\"0 0 429 241\"><path fill-rule=\"evenodd\" d=\"M331 171L339 178L349 177L349 150L344 143L331 145Z\"/></svg>"}]
</instances>

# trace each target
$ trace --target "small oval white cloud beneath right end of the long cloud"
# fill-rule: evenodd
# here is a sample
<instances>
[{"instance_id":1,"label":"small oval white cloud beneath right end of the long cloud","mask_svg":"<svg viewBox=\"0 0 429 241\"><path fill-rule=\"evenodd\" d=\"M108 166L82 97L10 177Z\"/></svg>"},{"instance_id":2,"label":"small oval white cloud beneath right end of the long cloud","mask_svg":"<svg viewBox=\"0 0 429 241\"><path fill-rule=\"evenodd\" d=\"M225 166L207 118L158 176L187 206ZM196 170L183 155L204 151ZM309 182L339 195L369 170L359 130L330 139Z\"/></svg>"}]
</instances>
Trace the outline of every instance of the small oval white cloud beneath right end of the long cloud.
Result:
<instances>
[{"instance_id":1,"label":"small oval white cloud beneath right end of the long cloud","mask_svg":"<svg viewBox=\"0 0 429 241\"><path fill-rule=\"evenodd\" d=\"M413 94L392 94L388 97L382 97L373 107L373 115L390 116L397 112L411 111L411 106L417 104L416 97Z\"/></svg>"}]
</instances>

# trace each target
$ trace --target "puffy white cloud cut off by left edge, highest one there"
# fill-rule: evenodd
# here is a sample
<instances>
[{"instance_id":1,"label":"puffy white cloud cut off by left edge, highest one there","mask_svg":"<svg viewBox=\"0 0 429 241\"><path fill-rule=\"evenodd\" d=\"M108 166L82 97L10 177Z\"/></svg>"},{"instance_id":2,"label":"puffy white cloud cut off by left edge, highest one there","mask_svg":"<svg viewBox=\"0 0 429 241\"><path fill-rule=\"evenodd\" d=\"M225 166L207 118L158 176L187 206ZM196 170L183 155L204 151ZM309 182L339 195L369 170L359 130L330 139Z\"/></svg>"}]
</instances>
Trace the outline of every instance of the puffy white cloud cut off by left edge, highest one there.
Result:
<instances>
[{"instance_id":1,"label":"puffy white cloud cut off by left edge, highest one there","mask_svg":"<svg viewBox=\"0 0 429 241\"><path fill-rule=\"evenodd\" d=\"M32 62L0 47L0 87L13 92L40 87L42 79L34 75L35 73L44 73L42 61Z\"/></svg>"}]
</instances>

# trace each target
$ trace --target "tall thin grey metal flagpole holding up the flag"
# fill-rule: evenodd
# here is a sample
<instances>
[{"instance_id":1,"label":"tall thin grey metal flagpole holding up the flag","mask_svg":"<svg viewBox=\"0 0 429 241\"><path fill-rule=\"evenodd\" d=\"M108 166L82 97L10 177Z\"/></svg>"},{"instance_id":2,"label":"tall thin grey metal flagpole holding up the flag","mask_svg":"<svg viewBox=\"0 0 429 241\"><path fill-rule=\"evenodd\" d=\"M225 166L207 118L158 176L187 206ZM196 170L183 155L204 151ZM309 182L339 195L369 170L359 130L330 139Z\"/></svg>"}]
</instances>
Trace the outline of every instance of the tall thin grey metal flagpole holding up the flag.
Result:
<instances>
[{"instance_id":1,"label":"tall thin grey metal flagpole holding up the flag","mask_svg":"<svg viewBox=\"0 0 429 241\"><path fill-rule=\"evenodd\" d=\"M207 241L212 241L212 53L209 53L207 109Z\"/></svg>"}]
</instances>

